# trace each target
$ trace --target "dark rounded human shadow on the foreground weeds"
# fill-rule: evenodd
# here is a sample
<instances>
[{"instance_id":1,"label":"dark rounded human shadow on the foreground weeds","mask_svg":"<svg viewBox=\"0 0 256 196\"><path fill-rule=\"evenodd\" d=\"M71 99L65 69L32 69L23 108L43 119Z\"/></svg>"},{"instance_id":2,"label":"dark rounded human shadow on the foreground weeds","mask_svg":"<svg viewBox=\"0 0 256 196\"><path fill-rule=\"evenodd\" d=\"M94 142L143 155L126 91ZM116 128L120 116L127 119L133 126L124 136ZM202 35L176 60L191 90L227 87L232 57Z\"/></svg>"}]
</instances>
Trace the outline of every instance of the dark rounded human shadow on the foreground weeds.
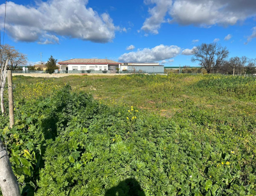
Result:
<instances>
[{"instance_id":1,"label":"dark rounded human shadow on the foreground weeds","mask_svg":"<svg viewBox=\"0 0 256 196\"><path fill-rule=\"evenodd\" d=\"M145 196L139 182L133 178L123 180L117 186L108 189L105 196Z\"/></svg>"}]
</instances>

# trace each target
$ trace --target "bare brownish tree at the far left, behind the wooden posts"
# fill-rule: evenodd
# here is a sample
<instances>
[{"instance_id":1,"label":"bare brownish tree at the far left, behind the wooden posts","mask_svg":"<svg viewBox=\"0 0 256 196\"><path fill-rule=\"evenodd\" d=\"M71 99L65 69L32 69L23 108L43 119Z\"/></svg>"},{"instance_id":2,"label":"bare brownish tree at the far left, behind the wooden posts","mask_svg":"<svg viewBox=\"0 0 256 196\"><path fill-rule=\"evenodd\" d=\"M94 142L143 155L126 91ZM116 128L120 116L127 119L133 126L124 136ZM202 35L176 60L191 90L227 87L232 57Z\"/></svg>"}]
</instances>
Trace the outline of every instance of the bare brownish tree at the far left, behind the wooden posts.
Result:
<instances>
[{"instance_id":1,"label":"bare brownish tree at the far left, behind the wooden posts","mask_svg":"<svg viewBox=\"0 0 256 196\"><path fill-rule=\"evenodd\" d=\"M9 44L1 45L1 50L2 63L5 64L7 59L9 59L11 69L16 69L17 66L27 64L26 55L16 50L14 46L10 46Z\"/></svg>"}]
</instances>

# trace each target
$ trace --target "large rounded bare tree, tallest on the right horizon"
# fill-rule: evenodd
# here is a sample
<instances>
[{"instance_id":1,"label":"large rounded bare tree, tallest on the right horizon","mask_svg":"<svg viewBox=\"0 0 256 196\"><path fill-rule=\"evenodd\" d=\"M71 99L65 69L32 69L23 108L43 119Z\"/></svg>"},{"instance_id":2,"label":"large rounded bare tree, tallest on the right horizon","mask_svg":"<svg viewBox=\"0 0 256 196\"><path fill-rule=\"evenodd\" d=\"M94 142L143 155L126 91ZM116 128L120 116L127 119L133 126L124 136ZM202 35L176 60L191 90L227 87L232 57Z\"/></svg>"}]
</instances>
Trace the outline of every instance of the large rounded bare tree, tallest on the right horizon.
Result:
<instances>
[{"instance_id":1,"label":"large rounded bare tree, tallest on the right horizon","mask_svg":"<svg viewBox=\"0 0 256 196\"><path fill-rule=\"evenodd\" d=\"M207 73L217 72L219 67L228 57L229 51L217 43L202 43L192 49L192 62L199 61L199 64L207 70Z\"/></svg>"}]
</instances>

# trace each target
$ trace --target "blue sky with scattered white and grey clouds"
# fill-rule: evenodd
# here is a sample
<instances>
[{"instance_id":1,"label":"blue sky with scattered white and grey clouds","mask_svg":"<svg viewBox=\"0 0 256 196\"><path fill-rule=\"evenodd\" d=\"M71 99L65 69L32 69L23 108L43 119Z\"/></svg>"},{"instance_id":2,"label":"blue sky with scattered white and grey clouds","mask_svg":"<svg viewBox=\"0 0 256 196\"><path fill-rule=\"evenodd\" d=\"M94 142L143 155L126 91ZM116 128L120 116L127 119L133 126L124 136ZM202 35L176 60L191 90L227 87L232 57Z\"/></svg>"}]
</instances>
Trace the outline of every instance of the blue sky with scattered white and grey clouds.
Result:
<instances>
[{"instance_id":1,"label":"blue sky with scattered white and grey clouds","mask_svg":"<svg viewBox=\"0 0 256 196\"><path fill-rule=\"evenodd\" d=\"M3 2L3 1L2 1ZM3 44L5 4L0 5ZM119 62L196 65L201 43L227 46L231 56L256 58L255 0L12 0L4 44L30 63L50 55Z\"/></svg>"}]
</instances>

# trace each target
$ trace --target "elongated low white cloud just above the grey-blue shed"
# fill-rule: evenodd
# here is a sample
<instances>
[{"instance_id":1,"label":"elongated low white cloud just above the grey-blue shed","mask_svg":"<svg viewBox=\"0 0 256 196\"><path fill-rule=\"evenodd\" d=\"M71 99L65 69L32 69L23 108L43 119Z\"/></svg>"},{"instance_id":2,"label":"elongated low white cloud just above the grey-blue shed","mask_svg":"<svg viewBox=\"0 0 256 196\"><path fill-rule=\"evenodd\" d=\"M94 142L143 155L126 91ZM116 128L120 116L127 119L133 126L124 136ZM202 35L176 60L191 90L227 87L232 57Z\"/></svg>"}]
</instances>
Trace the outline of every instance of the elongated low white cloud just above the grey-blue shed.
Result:
<instances>
[{"instance_id":1,"label":"elongated low white cloud just above the grey-blue shed","mask_svg":"<svg viewBox=\"0 0 256 196\"><path fill-rule=\"evenodd\" d=\"M119 62L156 62L163 61L169 58L174 58L180 54L180 47L165 46L163 44L154 48L138 49L136 52L129 52L121 55Z\"/></svg>"}]
</instances>

